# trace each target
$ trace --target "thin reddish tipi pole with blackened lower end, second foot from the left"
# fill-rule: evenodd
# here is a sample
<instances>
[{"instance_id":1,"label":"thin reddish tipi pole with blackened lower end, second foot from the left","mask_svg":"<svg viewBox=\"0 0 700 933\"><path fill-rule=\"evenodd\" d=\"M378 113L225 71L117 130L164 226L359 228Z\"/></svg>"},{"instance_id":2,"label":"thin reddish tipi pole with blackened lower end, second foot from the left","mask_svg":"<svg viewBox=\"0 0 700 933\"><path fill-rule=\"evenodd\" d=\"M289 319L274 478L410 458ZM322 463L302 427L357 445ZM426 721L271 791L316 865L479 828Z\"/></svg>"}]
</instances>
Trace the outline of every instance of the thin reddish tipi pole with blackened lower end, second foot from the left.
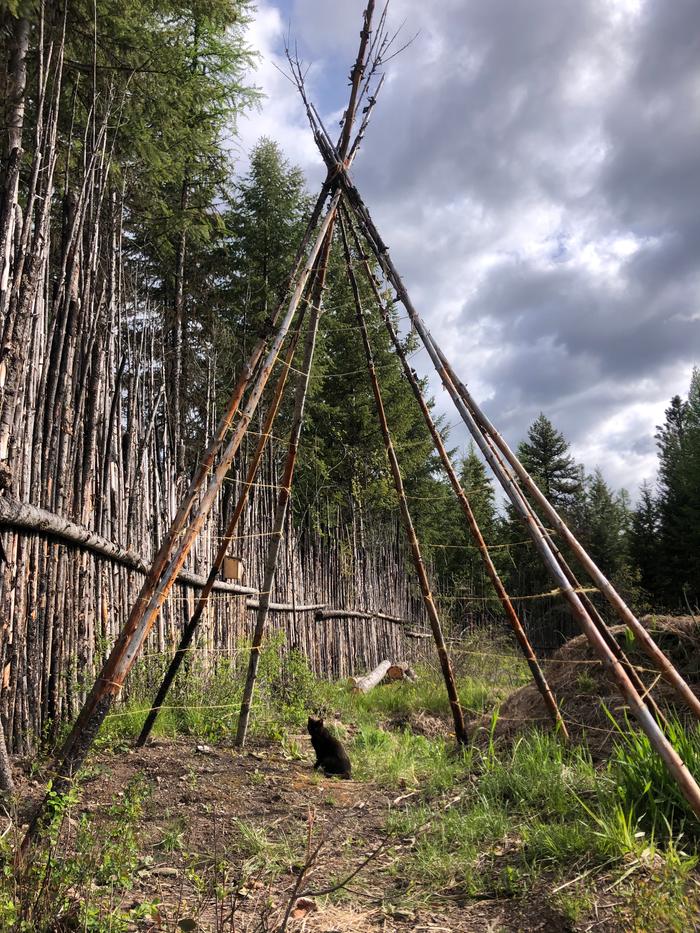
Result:
<instances>
[{"instance_id":1,"label":"thin reddish tipi pole with blackened lower end, second foot from the left","mask_svg":"<svg viewBox=\"0 0 700 933\"><path fill-rule=\"evenodd\" d=\"M146 744L148 736L151 734L151 730L155 724L156 719L158 718L158 713L165 702L165 699L168 695L168 691L172 686L177 672L182 666L182 662L185 660L187 652L190 645L192 644L192 639L194 638L195 632L199 626L204 610L207 607L209 602L209 596L214 588L219 571L224 563L224 558L229 550L229 543L234 535L238 522L241 515L243 514L243 509L245 508L246 502L250 495L250 490L257 476L258 468L260 466L260 461L262 460L263 453L267 447L267 442L270 437L270 431L275 422L275 418L279 412L280 404L282 401L282 395L284 393L284 387L287 383L287 377L289 376L289 367L291 366L294 360L294 353L296 352L298 338L301 333L303 317L299 319L299 325L297 327L294 337L290 341L289 349L287 350L287 355L282 364L282 371L280 372L279 379L277 380L277 385L275 386L275 391L273 393L272 399L270 400L270 405L265 416L265 422L258 440L257 446L251 458L251 461L248 465L248 470L246 471L245 481L243 483L243 490L238 498L236 507L231 516L231 520L226 526L226 531L224 532L224 537L219 545L219 549L216 552L214 557L214 563L212 564L211 570L209 571L209 576L207 577L207 582L202 589L202 592L199 595L197 604L194 608L194 612L190 619L187 620L187 623L183 629L182 636L180 638L180 644L177 646L177 651L175 652L170 665L165 672L163 681L158 689L158 692L153 700L151 709L146 717L146 721L143 724L139 737L136 740L136 746L138 748Z\"/></svg>"}]
</instances>

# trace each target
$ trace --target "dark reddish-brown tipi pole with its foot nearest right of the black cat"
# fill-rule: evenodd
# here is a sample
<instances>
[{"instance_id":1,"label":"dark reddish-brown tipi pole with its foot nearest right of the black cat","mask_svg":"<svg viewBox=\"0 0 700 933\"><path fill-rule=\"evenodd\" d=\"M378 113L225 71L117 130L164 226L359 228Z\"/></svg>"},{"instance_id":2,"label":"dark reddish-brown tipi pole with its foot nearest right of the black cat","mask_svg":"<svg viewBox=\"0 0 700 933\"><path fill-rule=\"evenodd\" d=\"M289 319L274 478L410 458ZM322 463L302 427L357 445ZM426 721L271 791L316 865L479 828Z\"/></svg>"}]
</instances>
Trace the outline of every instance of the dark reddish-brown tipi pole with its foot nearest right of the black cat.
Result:
<instances>
[{"instance_id":1,"label":"dark reddish-brown tipi pole with its foot nearest right of the black cat","mask_svg":"<svg viewBox=\"0 0 700 933\"><path fill-rule=\"evenodd\" d=\"M464 725L464 714L462 712L462 707L459 702L459 696L457 694L457 686L455 684L454 671L452 670L452 663L450 661L450 656L447 651L447 645L445 644L445 637L442 632L442 625L440 623L440 616L438 615L437 607L435 605L435 600L433 599L433 594L430 588L430 581L428 580L428 573L425 569L425 564L423 563L423 557L420 551L420 544L418 543L418 538L416 537L415 528L413 527L413 520L411 519L411 513L408 508L408 502L406 501L406 493L404 491L403 479L401 477L401 469L399 467L399 461L396 457L396 451L394 450L394 445L391 439L391 432L389 431L389 425L386 420L386 413L384 411L384 402L382 400L382 392L379 387L379 381L377 379L377 372L374 366L374 357L372 354L372 347L370 346L369 337L367 336L367 327L365 325L364 315L362 312L362 300L360 298L360 291L357 286L357 279L355 278L355 273L352 267L352 257L350 255L350 247L347 241L347 235L345 227L343 224L342 215L340 217L340 231L343 238L343 248L345 250L345 264L347 266L348 278L350 280L350 288L352 290L353 299L355 301L355 310L357 313L357 323L360 328L360 334L362 335L362 343L365 348L365 356L367 358L367 369L369 371L370 382L372 383L372 391L374 393L374 402L377 409L377 417L379 419L379 426L382 431L382 437L384 438L384 447L386 449L387 458L389 460L389 466L391 468L391 474L394 479L394 486L396 488L396 494L399 499L399 508L401 510L401 517L403 519L404 528L406 530L406 535L408 537L408 542L411 548L411 556L413 557L413 564L416 569L416 574L418 576L418 582L420 584L421 594L423 596L423 604L425 606L426 612L428 613L428 619L430 621L430 627L433 631L433 638L435 639L435 646L437 648L438 658L440 659L440 667L442 668L442 676L445 680L445 687L447 688L447 696L450 701L450 708L452 710L452 719L454 721L455 727L455 736L457 741L463 745L467 742L467 730Z\"/></svg>"}]
</instances>

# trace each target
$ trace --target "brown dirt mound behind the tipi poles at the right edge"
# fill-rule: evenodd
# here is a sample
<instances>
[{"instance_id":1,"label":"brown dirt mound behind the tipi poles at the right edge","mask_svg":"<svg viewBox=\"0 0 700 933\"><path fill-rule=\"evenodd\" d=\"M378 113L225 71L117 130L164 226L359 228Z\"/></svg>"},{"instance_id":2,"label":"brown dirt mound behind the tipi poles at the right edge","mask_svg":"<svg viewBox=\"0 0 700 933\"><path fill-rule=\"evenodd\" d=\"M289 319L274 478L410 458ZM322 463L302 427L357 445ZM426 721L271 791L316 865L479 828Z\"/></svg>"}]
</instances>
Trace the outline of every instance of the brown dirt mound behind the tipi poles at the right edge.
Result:
<instances>
[{"instance_id":1,"label":"brown dirt mound behind the tipi poles at the right edge","mask_svg":"<svg viewBox=\"0 0 700 933\"><path fill-rule=\"evenodd\" d=\"M689 616L645 616L641 621L700 696L700 621ZM630 641L626 626L617 625L610 631L659 706L662 709L674 707L674 691L659 677L653 662L637 643ZM586 636L578 635L562 645L543 662L543 668L572 739L585 739L595 757L604 757L615 735L606 709L616 721L623 722L628 707L612 675L597 660ZM679 708L678 712L683 714L685 710ZM481 717L472 724L477 742L485 739L490 725L490 716ZM507 741L533 726L551 728L552 721L537 687L528 684L501 704L495 735Z\"/></svg>"}]
</instances>

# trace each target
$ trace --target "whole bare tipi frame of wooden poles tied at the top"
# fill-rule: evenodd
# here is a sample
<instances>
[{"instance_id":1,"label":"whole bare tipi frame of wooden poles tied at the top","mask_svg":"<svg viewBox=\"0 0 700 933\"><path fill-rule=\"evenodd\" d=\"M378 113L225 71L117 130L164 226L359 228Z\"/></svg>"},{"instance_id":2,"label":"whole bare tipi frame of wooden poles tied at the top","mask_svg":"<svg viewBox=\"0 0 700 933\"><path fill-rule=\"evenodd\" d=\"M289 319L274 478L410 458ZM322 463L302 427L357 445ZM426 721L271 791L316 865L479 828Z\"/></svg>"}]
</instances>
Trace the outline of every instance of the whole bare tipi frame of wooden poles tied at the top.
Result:
<instances>
[{"instance_id":1,"label":"whole bare tipi frame of wooden poles tied at the top","mask_svg":"<svg viewBox=\"0 0 700 933\"><path fill-rule=\"evenodd\" d=\"M585 550L573 536L561 517L557 514L556 510L546 500L531 477L527 474L522 464L520 464L515 455L508 448L503 438L495 430L493 425L491 425L489 420L476 404L466 386L457 378L448 360L436 344L431 334L428 332L422 321L422 318L412 304L410 296L408 295L401 277L399 276L398 271L396 270L393 261L389 256L388 249L382 241L377 228L372 221L369 211L367 210L357 188L349 176L348 169L350 163L355 153L357 152L360 141L367 127L369 116L376 101L378 87L374 88L374 93L372 94L372 79L375 77L377 69L382 64L382 62L388 60L389 49L393 39L395 38L390 38L386 32L386 9L387 7L385 6L380 17L379 28L377 29L374 36L372 35L371 30L372 16L374 12L374 0L369 0L364 11L360 51L351 73L350 100L348 109L345 112L343 130L337 147L333 145L330 137L328 136L328 133L325 131L325 128L323 127L318 117L315 108L313 107L313 104L311 104L308 100L308 96L304 87L304 76L298 61L292 61L290 57L292 75L301 93L307 110L307 115L313 129L314 138L319 147L328 172L326 181L322 186L321 193L303 238L297 260L294 264L293 273L289 279L288 288L291 290L291 295L289 297L286 310L283 299L273 314L269 324L269 336L266 339L261 340L254 349L248 364L239 379L238 385L234 390L225 414L218 425L216 434L205 451L200 465L195 471L190 488L178 509L175 519L173 520L173 523L166 535L163 544L161 545L160 550L158 551L153 566L151 567L151 570L149 571L149 574L144 582L141 593L136 603L134 604L134 607L132 608L129 620L119 638L117 639L117 642L115 643L114 648L109 658L107 659L107 662L105 663L100 675L98 676L93 689L88 695L84 707L76 720L73 730L71 731L71 734L69 735L64 745L61 753L61 760L58 763L56 776L53 782L53 794L64 793L69 788L73 775L81 767L85 756L87 755L87 752L89 751L94 741L97 731L99 730L100 725L104 720L105 715L111 708L115 698L118 696L124 680L129 673L129 670L131 669L134 661L136 660L143 646L143 643L149 631L151 630L158 613L160 612L162 604L166 599L170 589L172 588L177 574L182 568L192 548L192 545L197 535L201 531L209 511L211 510L211 507L221 487L221 483L223 482L231 466L233 458L240 447L241 440L246 433L250 420L256 410L274 365L281 352L285 338L297 313L300 302L302 302L304 295L307 293L307 289L310 287L312 289L310 299L312 305L312 320L309 324L305 354L305 358L308 361L308 367L306 372L303 373L302 377L300 377L300 381L297 387L295 421L292 437L290 439L287 460L288 469L285 471L285 482L283 482L283 489L281 490L282 498L278 500L277 517L279 518L279 515L282 515L282 523L280 524L281 536L281 529L282 525L284 524L284 517L286 515L289 495L291 492L290 486L293 474L294 456L296 453L296 443L298 441L298 431L301 428L303 403L306 394L306 386L308 385L309 370L313 356L313 344L318 323L319 305L322 297L321 292L323 286L323 276L325 274L325 272L322 270L325 270L325 260L327 259L327 252L330 249L332 228L335 222L336 211L342 196L349 210L354 214L355 222L357 223L357 226L367 246L369 247L370 253L374 255L385 282L393 287L398 300L401 301L406 311L408 312L409 318L418 335L420 336L420 339L425 349L427 350L436 368L436 371L442 379L446 390L452 398L457 411L469 428L472 437L479 446L487 462L491 466L494 475L499 480L506 494L513 503L516 512L521 516L523 522L525 523L525 526L528 529L533 542L539 551L545 566L554 579L559 591L567 600L574 616L579 621L581 628L587 635L590 643L602 660L603 664L614 676L623 697L629 704L634 715L637 717L642 729L649 737L653 747L666 762L669 770L678 782L682 792L689 801L695 813L700 816L700 788L698 788L695 778L690 774L685 764L682 762L679 755L664 735L661 725L659 722L657 722L657 719L654 718L650 712L650 709L647 707L647 705L645 705L643 696L641 694L641 682L639 681L639 678L637 678L635 681L628 675L629 665L625 663L624 656L621 656L619 652L615 652L611 648L611 637L609 636L607 630L605 630L605 633L603 632L602 627L604 626L604 623L602 622L602 619L600 619L597 614L594 614L590 611L588 608L588 603L584 602L581 598L583 594L579 594L577 592L577 590L580 588L576 585L573 574L560 559L561 555L559 555L557 549L553 546L549 533L543 527L542 522L539 520L536 513L534 512L534 509L529 504L527 496L532 497L537 506L542 509L547 521L551 522L557 534L571 548L572 552L576 555L578 561L591 577L594 584L605 595L622 620L629 626L630 630L634 633L635 637L638 639L639 643L647 652L649 657L652 658L652 660L656 663L663 676L673 685L678 695L698 716L700 716L700 701L698 701L698 699L692 693L688 684L683 680L678 671L676 671L668 658L666 658L663 652L656 646L644 627L639 623L634 614L624 603L624 600L622 600L610 582L604 577L604 575L591 560L588 554L586 554ZM378 80L379 87L381 86L381 80L381 78ZM350 140L352 135L353 122L365 99L368 101L368 103L364 109L364 118L355 140L351 143ZM331 193L332 198L330 206L327 210L325 218L323 219L323 222L320 224L320 228L316 232L315 240L313 240L313 244L310 246L309 244L311 244L314 237L314 232L316 231L316 226L323 211L323 206L328 195ZM350 260L349 250L347 250L346 255L348 260ZM348 272L351 275L352 284L354 275L352 274L350 261L348 261ZM385 436L387 453L389 455L392 472L396 481L397 492L399 492L399 498L401 500L400 469L395 454L393 457L391 456L393 448L391 446L391 438L388 431L388 426L386 425L385 420L382 420L381 418L381 391L376 377L376 372L374 372L372 366L371 348L367 339L366 328L364 327L362 309L359 304L356 283L353 291L358 302L358 327L361 337L364 341L370 373L373 376L372 383L377 401L378 414L380 421L382 422L382 430ZM246 392L248 394L245 405L239 411ZM234 425L234 418L236 418L236 416L238 417ZM274 419L274 414L271 416L271 418L272 420ZM270 421L270 423L272 423L272 421ZM224 442L229 432L231 432L231 436L222 452L222 447L224 446ZM439 445L438 453L440 453ZM254 468L255 457L253 458L253 462L250 466L250 469L253 471L253 475ZM209 476L210 478L205 487L205 482ZM457 489L455 489L455 492L457 492ZM457 492L457 494L461 501L459 492ZM405 503L405 499L403 501ZM467 514L467 517L469 517L467 510L465 510L465 513ZM410 515L408 515L407 509L404 518L407 519L405 524L410 536L411 523ZM479 545L479 542L481 542L483 549L485 549L485 544L483 543L483 538L478 532L478 527L474 527L476 523L469 521L469 525L475 540L477 541L477 544ZM415 538L415 535L413 537ZM266 613L264 606L266 600L269 600L269 588L274 577L274 570L279 553L279 547L277 546L277 548L275 548L275 543L277 545L279 544L279 542L275 542L275 539L273 538L271 542L271 548L268 552L268 565L266 567L267 582L264 586L264 591L261 593L261 611L258 615L257 625L257 629L259 629L259 631L256 632L256 636L259 636L257 645L258 647L262 638L265 622ZM414 555L414 561L416 563L416 568L419 570L419 568L422 566L422 561L420 559L418 542L417 540L414 541L411 539L410 543ZM488 556L487 553L485 556ZM215 571L212 570L212 573L215 573ZM444 648L444 640L442 642L444 651L441 650L441 632L439 627L439 620L437 620L437 613L435 613L435 618L433 618L433 614L430 610L432 597L430 596L430 588L427 582L427 577L425 579L421 578L421 583L426 608L428 609L428 615L431 620L431 624L433 625L436 641L438 642L440 659L441 662L443 662L443 674L445 677L448 695L450 696L452 703L453 713L455 715L455 728L457 736L461 739L463 738L463 723L462 728L460 728L458 725L461 717L461 708L456 697L456 691L454 690L454 681L452 679L449 658L447 656L446 648ZM510 613L508 614L510 616ZM437 627L434 624L436 620ZM525 645L522 644L522 642L521 645L525 649ZM253 654L254 653L255 652L253 652ZM182 652L180 652L180 656L182 656ZM253 663L252 655L251 664L249 667L249 687L246 688L248 701L252 695L252 684L254 683L255 679L255 669L256 664ZM536 676L534 668L533 675ZM542 687L542 684L540 684L540 686ZM165 690L167 691L167 687ZM553 712L555 716L558 715L558 713L554 710ZM242 709L241 722L243 725L239 728L239 739L241 739L241 732L242 737L245 736L245 723L247 722L247 710L245 709L245 704L244 709ZM49 798L47 797L47 801L48 799ZM31 845L31 842L36 837L39 829L42 827L42 817L45 809L46 801L44 807L37 813L34 820L30 824L30 828L23 841L21 855L26 854L27 849Z\"/></svg>"}]
</instances>

